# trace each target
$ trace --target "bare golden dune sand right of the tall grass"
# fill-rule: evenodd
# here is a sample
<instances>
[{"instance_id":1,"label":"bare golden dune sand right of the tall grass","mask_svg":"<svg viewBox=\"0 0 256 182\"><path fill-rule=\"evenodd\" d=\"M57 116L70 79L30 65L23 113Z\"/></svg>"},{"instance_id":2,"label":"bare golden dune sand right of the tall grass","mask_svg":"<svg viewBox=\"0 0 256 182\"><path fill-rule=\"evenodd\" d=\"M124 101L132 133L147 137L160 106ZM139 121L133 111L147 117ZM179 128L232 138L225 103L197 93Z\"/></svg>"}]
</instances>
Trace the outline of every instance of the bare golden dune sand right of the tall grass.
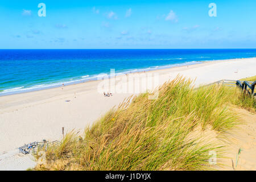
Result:
<instances>
[{"instance_id":1,"label":"bare golden dune sand right of the tall grass","mask_svg":"<svg viewBox=\"0 0 256 182\"><path fill-rule=\"evenodd\" d=\"M218 166L213 168L221 171L255 171L256 170L256 114L238 106L230 107L240 117L240 125L233 129L218 133L207 126L202 130L198 126L189 133L188 139L200 138L204 144L209 142L223 147L224 154L220 158L216 153ZM240 155L238 151L241 149ZM214 150L212 151L214 152ZM213 154L213 153L212 153ZM213 157L213 156L212 156Z\"/></svg>"}]
</instances>

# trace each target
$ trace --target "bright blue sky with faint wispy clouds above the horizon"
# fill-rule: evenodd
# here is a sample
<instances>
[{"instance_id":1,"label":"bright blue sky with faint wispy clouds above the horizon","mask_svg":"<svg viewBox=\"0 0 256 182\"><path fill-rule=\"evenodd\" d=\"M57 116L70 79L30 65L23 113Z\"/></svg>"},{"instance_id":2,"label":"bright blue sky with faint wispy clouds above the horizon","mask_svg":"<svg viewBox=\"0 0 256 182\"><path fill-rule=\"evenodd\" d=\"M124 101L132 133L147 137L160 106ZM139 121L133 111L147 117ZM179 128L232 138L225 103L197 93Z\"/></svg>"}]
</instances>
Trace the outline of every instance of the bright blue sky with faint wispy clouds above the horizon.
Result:
<instances>
[{"instance_id":1,"label":"bright blue sky with faint wispy clouds above the horizon","mask_svg":"<svg viewBox=\"0 0 256 182\"><path fill-rule=\"evenodd\" d=\"M10 0L0 22L0 48L256 48L255 0Z\"/></svg>"}]
</instances>

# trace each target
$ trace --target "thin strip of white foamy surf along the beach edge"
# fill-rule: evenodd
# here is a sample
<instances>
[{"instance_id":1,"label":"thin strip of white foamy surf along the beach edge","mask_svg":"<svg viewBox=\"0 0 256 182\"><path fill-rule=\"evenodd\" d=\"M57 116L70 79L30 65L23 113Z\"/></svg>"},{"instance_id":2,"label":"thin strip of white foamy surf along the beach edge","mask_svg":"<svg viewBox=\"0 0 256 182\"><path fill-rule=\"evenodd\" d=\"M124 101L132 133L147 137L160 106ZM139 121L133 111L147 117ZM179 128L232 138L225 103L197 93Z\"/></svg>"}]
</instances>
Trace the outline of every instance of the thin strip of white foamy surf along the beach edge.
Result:
<instances>
[{"instance_id":1,"label":"thin strip of white foamy surf along the beach edge","mask_svg":"<svg viewBox=\"0 0 256 182\"><path fill-rule=\"evenodd\" d=\"M216 61L229 61L229 60L254 59L254 58L256 58L256 57L224 59L224 60L189 61L189 62L177 63L177 64L173 64L173 65L152 66L152 68L151 67L149 67L149 68L134 68L134 69L132 69L130 71L123 71L123 72L115 73L115 76L117 77L117 76L123 75L123 74L141 73L141 72L152 72L152 71L158 71L158 70L162 70L162 69L187 67L187 66L192 66L192 65L197 65L197 64L212 63L212 62L216 62ZM134 71L134 70L139 70L139 71ZM99 73L98 75L100 75L100 74L101 73ZM59 81L59 82L52 83L52 84L43 84L42 83L43 85L45 85L43 87L36 87L36 86L39 86L39 85L34 85L34 86L29 87L29 88L24 88L23 89L23 86L19 85L19 87L17 87L17 88L18 89L20 88L21 90L15 90L16 88L7 89L7 90L14 90L14 91L10 91L10 92L5 92L5 90L3 90L3 92L0 92L0 97L10 96L10 95L13 95L13 94L35 92L35 91L40 91L40 90L52 89L52 88L60 88L61 86L63 86L63 84L65 86L69 86L69 85L82 84L82 83L90 82L90 81L97 81L98 80L98 78L97 78L98 75L92 75L92 77L88 77L88 78L82 78L83 76L81 76L81 79L79 79L79 80L71 80L71 81L63 81L63 82ZM110 75L108 75L108 77L112 78L112 77L110 77Z\"/></svg>"}]
</instances>

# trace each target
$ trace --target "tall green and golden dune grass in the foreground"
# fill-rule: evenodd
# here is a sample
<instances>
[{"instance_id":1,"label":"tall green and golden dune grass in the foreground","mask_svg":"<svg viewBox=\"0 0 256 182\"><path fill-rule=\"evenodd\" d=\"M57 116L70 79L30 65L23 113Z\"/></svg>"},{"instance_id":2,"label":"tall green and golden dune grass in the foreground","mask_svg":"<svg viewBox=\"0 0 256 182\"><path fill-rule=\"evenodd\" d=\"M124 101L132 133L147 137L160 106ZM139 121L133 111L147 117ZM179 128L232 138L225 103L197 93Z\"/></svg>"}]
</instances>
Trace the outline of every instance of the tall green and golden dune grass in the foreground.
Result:
<instances>
[{"instance_id":1,"label":"tall green and golden dune grass in the foreground","mask_svg":"<svg viewBox=\"0 0 256 182\"><path fill-rule=\"evenodd\" d=\"M72 131L60 146L46 152L46 164L36 170L207 170L210 151L221 158L224 150L207 139L189 137L197 128L216 133L239 122L230 104L254 108L242 101L238 88L204 86L193 89L182 77L159 88L159 97L149 93L124 101L84 131ZM39 156L36 156L39 158Z\"/></svg>"}]
</instances>

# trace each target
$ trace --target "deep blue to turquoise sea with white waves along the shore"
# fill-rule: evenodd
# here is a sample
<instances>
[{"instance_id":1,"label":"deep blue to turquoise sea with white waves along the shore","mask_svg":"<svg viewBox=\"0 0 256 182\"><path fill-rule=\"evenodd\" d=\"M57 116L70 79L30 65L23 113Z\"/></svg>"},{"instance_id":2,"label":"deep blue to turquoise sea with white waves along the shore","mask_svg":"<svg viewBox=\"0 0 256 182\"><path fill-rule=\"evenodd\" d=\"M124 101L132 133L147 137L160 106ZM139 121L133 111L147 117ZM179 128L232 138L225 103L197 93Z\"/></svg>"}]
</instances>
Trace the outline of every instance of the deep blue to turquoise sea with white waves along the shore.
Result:
<instances>
[{"instance_id":1,"label":"deep blue to turquoise sea with white waves along the shore","mask_svg":"<svg viewBox=\"0 0 256 182\"><path fill-rule=\"evenodd\" d=\"M256 57L256 49L0 49L0 96L150 71Z\"/></svg>"}]
</instances>

